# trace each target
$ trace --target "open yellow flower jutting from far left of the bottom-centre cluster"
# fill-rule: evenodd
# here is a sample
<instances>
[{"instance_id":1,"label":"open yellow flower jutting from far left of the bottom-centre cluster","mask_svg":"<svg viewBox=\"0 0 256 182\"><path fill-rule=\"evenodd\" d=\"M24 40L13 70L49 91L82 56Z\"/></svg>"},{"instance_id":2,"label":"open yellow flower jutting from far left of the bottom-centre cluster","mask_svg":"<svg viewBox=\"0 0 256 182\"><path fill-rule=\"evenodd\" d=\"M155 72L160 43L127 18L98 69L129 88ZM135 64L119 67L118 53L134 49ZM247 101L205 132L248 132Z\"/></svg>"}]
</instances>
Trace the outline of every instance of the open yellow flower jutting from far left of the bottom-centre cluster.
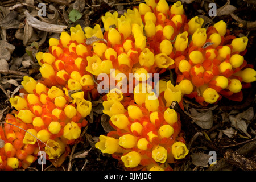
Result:
<instances>
[{"instance_id":1,"label":"open yellow flower jutting from far left of the bottom-centre cluster","mask_svg":"<svg viewBox=\"0 0 256 182\"><path fill-rule=\"evenodd\" d=\"M99 139L100 142L97 142L95 147L101 150L102 153L114 154L115 152L121 151L121 147L118 144L119 139L105 135L100 135Z\"/></svg>"}]
</instances>

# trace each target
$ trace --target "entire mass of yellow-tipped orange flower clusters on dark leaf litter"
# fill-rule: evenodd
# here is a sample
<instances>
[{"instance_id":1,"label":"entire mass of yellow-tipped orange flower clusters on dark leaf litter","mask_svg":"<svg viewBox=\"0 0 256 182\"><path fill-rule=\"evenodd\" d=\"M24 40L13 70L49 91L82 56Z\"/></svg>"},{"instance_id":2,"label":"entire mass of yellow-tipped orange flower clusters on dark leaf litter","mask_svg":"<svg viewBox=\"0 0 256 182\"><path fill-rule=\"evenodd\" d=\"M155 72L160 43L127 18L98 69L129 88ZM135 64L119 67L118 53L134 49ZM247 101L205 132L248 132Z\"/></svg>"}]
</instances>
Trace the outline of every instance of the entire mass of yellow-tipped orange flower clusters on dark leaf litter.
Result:
<instances>
[{"instance_id":1,"label":"entire mass of yellow-tipped orange flower clusters on dark leaf litter","mask_svg":"<svg viewBox=\"0 0 256 182\"><path fill-rule=\"evenodd\" d=\"M10 98L16 114L7 114L0 127L5 141L0 170L27 168L38 156L38 144L47 159L67 156L87 124L89 99L100 96L97 78L108 75L105 81L118 86L123 81L118 73L126 78L133 73L135 80L102 97L103 113L115 131L100 135L96 148L126 169L170 170L168 163L188 154L179 113L169 108L172 102L182 106L184 95L202 105L222 96L241 101L241 89L256 80L243 58L248 39L230 35L222 20L208 29L198 16L187 20L180 1L146 0L119 18L115 11L101 19L104 32L99 24L84 30L77 25L60 39L50 38L48 52L36 53L42 78L24 76L20 95ZM148 82L150 75L167 69L175 69L176 85ZM156 85L158 93L152 92Z\"/></svg>"}]
</instances>

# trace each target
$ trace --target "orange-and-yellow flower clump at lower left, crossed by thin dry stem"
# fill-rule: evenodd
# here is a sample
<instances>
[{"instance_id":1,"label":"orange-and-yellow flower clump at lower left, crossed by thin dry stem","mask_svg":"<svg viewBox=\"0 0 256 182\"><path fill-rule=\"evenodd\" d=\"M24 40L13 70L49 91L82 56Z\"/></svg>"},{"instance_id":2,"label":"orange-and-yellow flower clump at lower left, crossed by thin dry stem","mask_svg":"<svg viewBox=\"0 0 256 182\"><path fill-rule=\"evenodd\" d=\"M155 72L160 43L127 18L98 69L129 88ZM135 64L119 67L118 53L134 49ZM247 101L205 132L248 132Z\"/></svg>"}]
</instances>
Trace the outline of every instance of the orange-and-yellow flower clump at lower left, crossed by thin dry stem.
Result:
<instances>
[{"instance_id":1,"label":"orange-and-yellow flower clump at lower left, crossed by thin dry stem","mask_svg":"<svg viewBox=\"0 0 256 182\"><path fill-rule=\"evenodd\" d=\"M39 151L45 151L47 159L68 152L68 144L80 137L81 127L87 124L84 117L92 110L82 91L69 96L65 88L47 88L28 76L22 85L24 95L10 98L17 110L15 117L7 114L4 129L0 127L0 139L5 141L0 148L3 170L27 168Z\"/></svg>"}]
</instances>

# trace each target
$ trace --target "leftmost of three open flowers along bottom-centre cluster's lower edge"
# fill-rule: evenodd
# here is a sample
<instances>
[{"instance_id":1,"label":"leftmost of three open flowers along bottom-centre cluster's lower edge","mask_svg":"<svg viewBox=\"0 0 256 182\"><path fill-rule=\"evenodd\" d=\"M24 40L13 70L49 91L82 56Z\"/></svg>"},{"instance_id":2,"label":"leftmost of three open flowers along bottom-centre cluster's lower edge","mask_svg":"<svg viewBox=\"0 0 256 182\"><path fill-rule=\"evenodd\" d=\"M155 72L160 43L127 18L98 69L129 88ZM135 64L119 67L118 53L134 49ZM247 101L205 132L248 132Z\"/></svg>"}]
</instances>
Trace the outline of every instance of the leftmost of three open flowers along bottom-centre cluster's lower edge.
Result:
<instances>
[{"instance_id":1,"label":"leftmost of three open flowers along bottom-centre cluster's lower edge","mask_svg":"<svg viewBox=\"0 0 256 182\"><path fill-rule=\"evenodd\" d=\"M131 151L126 155L121 156L121 160L125 163L125 167L136 167L141 162L141 155L138 152Z\"/></svg>"}]
</instances>

